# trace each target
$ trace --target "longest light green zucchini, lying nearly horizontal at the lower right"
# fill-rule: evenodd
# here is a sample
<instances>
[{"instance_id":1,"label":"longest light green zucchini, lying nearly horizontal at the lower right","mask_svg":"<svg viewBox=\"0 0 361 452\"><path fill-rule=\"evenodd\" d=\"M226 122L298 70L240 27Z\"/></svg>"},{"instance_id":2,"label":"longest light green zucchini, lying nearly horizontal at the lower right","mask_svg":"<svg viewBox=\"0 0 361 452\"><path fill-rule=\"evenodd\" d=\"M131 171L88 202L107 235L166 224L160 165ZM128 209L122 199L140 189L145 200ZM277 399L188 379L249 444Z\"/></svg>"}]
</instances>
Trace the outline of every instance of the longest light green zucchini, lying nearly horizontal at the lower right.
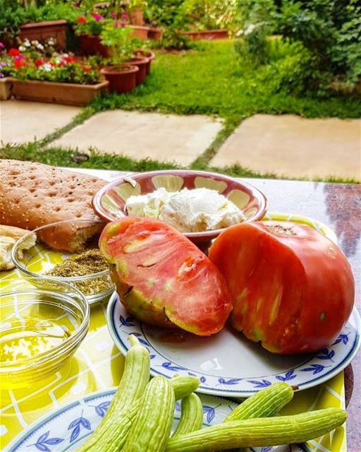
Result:
<instances>
[{"instance_id":1,"label":"longest light green zucchini, lying nearly horizontal at the lower right","mask_svg":"<svg viewBox=\"0 0 361 452\"><path fill-rule=\"evenodd\" d=\"M224 422L171 438L166 452L208 452L302 443L340 427L346 418L341 408L325 408L292 416Z\"/></svg>"}]
</instances>

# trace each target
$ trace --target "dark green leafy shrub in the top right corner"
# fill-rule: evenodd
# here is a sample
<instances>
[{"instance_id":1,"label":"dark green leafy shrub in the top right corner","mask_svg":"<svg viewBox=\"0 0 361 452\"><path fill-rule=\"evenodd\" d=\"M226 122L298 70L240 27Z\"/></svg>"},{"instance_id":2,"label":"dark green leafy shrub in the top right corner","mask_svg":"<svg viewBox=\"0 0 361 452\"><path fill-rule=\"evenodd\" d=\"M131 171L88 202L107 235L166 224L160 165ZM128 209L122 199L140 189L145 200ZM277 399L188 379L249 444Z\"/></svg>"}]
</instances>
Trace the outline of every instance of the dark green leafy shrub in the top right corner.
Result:
<instances>
[{"instance_id":1,"label":"dark green leafy shrub in the top right corner","mask_svg":"<svg viewBox=\"0 0 361 452\"><path fill-rule=\"evenodd\" d=\"M319 95L331 83L342 89L361 81L361 4L358 0L283 0L276 14L284 38L301 42L312 54Z\"/></svg>"}]
</instances>

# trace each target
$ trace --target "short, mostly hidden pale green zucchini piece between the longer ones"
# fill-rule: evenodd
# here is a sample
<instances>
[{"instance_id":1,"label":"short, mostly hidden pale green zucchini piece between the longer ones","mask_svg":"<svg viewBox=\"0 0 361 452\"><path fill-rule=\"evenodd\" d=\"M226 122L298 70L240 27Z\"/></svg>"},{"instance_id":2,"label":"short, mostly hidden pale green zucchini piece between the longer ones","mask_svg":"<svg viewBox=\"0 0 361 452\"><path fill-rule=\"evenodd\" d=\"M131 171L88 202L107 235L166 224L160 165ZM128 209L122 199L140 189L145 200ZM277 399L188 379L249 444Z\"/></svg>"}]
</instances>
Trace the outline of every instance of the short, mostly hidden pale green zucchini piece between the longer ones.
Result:
<instances>
[{"instance_id":1,"label":"short, mostly hidden pale green zucchini piece between the longer ones","mask_svg":"<svg viewBox=\"0 0 361 452\"><path fill-rule=\"evenodd\" d=\"M195 432L202 429L203 425L203 405L197 394L192 393L182 399L181 419L178 422L173 436Z\"/></svg>"}]
</instances>

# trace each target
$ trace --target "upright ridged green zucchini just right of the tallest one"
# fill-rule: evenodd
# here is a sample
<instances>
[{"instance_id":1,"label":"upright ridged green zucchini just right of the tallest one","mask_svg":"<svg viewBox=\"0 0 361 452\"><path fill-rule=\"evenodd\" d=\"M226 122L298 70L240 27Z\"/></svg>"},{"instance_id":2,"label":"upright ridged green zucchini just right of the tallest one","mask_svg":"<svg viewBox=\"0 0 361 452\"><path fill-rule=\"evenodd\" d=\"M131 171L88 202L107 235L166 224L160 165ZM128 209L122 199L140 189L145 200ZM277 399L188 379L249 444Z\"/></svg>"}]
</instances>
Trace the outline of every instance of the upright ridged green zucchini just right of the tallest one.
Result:
<instances>
[{"instance_id":1,"label":"upright ridged green zucchini just right of the tallest one","mask_svg":"<svg viewBox=\"0 0 361 452\"><path fill-rule=\"evenodd\" d=\"M122 452L164 452L173 424L174 391L164 376L149 381Z\"/></svg>"}]
</instances>

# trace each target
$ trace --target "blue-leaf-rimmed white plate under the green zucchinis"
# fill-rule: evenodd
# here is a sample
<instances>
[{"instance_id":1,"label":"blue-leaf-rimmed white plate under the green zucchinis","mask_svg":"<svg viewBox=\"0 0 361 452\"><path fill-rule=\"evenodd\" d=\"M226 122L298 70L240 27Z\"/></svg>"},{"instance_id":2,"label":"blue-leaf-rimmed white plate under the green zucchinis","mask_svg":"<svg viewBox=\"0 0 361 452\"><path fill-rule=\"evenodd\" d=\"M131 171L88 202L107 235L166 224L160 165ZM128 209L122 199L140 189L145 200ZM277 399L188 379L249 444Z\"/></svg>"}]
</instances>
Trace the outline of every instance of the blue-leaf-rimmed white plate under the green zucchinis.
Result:
<instances>
[{"instance_id":1,"label":"blue-leaf-rimmed white plate under the green zucchinis","mask_svg":"<svg viewBox=\"0 0 361 452\"><path fill-rule=\"evenodd\" d=\"M7 452L65 452L75 451L97 427L109 407L115 389L97 391L54 410L19 434L6 449ZM237 406L235 403L212 396L200 396L203 403L204 427L219 424ZM181 404L176 403L173 428L181 415ZM253 449L251 449L253 451ZM306 451L302 446L255 448L256 452Z\"/></svg>"}]
</instances>

